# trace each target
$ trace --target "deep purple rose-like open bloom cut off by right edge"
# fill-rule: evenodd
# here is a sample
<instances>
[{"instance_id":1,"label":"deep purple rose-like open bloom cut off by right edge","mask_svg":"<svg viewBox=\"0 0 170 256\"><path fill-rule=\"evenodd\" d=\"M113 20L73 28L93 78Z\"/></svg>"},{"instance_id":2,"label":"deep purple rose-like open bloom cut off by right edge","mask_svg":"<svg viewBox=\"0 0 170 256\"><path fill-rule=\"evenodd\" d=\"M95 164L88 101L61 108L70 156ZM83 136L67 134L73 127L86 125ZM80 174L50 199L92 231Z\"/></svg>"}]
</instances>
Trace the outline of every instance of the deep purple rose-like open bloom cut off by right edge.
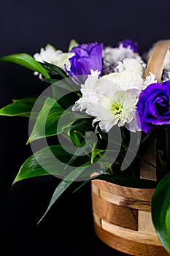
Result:
<instances>
[{"instance_id":1,"label":"deep purple rose-like open bloom cut off by right edge","mask_svg":"<svg viewBox=\"0 0 170 256\"><path fill-rule=\"evenodd\" d=\"M147 86L139 95L136 106L144 132L155 126L170 124L170 80Z\"/></svg>"}]
</instances>

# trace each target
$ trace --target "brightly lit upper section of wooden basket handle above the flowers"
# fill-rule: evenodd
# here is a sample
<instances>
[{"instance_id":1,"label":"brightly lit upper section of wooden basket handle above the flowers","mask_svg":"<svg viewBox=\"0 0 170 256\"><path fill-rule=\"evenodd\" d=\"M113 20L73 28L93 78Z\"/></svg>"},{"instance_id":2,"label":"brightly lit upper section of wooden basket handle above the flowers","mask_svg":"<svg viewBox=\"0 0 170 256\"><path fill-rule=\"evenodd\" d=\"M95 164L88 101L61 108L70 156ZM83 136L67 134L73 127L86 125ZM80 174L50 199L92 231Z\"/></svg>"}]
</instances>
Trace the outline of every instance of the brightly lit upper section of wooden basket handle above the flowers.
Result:
<instances>
[{"instance_id":1,"label":"brightly lit upper section of wooden basket handle above the flowers","mask_svg":"<svg viewBox=\"0 0 170 256\"><path fill-rule=\"evenodd\" d=\"M150 59L147 63L147 69L144 75L145 77L150 75L150 72L152 72L155 75L155 79L158 81L158 83L161 81L163 62L169 49L170 39L161 40L155 43L150 55Z\"/></svg>"}]
</instances>

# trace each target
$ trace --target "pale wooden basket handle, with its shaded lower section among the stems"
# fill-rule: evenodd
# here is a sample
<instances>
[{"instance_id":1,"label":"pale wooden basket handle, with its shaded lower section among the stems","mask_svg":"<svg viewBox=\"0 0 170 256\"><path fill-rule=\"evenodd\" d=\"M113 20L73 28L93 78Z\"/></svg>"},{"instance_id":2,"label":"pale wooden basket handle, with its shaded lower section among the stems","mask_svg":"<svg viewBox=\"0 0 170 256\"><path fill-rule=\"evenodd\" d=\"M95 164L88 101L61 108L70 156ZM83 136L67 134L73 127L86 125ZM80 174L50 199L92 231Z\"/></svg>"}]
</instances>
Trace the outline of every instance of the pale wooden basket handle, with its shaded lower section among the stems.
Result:
<instances>
[{"instance_id":1,"label":"pale wooden basket handle, with its shaded lower section among the stems","mask_svg":"<svg viewBox=\"0 0 170 256\"><path fill-rule=\"evenodd\" d=\"M150 59L147 63L147 69L145 72L145 77L150 75L152 72L155 75L155 79L158 83L161 81L162 72L163 72L163 62L166 56L166 53L170 49L170 39L161 40L155 43L155 46L152 49ZM170 61L170 60L169 60ZM154 141L150 148L148 148L146 154L144 154L144 159L156 166L156 142ZM156 181L156 168L148 165L143 160L140 165L140 178Z\"/></svg>"}]
</instances>

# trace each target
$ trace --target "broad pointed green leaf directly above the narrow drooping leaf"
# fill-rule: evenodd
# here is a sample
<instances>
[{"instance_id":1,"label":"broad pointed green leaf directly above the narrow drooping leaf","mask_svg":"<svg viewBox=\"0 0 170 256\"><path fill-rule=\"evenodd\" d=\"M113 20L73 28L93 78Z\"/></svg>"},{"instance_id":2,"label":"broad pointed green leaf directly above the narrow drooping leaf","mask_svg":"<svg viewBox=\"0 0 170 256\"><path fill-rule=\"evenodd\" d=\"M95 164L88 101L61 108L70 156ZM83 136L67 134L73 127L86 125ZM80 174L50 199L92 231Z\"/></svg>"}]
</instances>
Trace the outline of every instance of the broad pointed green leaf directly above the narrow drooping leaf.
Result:
<instances>
[{"instance_id":1,"label":"broad pointed green leaf directly above the narrow drooping leaf","mask_svg":"<svg viewBox=\"0 0 170 256\"><path fill-rule=\"evenodd\" d=\"M69 147L67 148L70 150ZM77 157L72 162L72 166L68 166L68 162L72 159L72 154L68 153L69 150L64 150L60 145L54 145L37 151L20 167L13 184L36 176L54 175L64 178L74 167L80 167L88 162L88 157Z\"/></svg>"}]
</instances>

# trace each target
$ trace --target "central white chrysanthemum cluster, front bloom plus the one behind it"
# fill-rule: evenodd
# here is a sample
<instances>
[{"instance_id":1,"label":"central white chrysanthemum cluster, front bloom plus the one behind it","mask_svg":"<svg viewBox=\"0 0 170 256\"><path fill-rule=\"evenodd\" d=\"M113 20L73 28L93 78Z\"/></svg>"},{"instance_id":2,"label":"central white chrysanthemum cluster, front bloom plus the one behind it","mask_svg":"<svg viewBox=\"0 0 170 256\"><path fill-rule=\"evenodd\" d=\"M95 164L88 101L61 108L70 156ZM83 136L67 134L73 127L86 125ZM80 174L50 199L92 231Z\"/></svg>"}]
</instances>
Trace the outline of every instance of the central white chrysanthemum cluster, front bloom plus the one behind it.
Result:
<instances>
[{"instance_id":1,"label":"central white chrysanthemum cluster, front bloom plus the one behind it","mask_svg":"<svg viewBox=\"0 0 170 256\"><path fill-rule=\"evenodd\" d=\"M125 126L131 132L140 130L136 124L136 103L142 89L156 83L150 73L143 78L144 69L136 59L124 59L117 66L119 72L112 72L98 78L98 71L91 70L85 84L81 85L82 98L72 110L94 116L93 124L104 132L113 126Z\"/></svg>"}]
</instances>

